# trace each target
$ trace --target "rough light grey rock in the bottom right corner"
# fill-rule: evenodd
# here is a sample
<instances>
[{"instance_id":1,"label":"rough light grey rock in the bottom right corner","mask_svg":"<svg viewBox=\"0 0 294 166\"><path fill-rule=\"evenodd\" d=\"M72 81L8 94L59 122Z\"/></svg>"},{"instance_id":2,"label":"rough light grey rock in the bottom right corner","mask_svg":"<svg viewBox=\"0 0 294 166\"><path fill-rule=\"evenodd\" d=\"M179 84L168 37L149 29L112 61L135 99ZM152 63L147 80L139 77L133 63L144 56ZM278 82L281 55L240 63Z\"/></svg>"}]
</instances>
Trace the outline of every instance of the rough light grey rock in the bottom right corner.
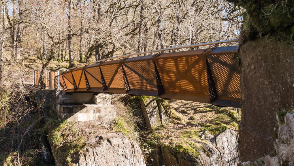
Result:
<instances>
[{"instance_id":1,"label":"rough light grey rock in the bottom right corner","mask_svg":"<svg viewBox=\"0 0 294 166\"><path fill-rule=\"evenodd\" d=\"M285 114L284 117L277 115L277 120L281 121L274 143L276 155L267 155L256 161L243 162L239 166L294 165L294 110L292 113Z\"/></svg>"}]
</instances>

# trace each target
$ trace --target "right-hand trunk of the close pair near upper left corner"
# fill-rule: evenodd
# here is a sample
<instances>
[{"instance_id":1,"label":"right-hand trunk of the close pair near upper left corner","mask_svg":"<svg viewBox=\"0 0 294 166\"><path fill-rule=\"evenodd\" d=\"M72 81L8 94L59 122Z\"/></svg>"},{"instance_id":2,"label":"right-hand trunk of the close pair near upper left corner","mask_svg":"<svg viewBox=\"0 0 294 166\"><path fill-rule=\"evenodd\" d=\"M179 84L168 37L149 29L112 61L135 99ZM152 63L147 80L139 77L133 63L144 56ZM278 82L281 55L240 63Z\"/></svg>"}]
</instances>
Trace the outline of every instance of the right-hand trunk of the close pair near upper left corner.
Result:
<instances>
[{"instance_id":1,"label":"right-hand trunk of the close pair near upper left corner","mask_svg":"<svg viewBox=\"0 0 294 166\"><path fill-rule=\"evenodd\" d=\"M21 50L21 34L23 30L22 21L23 21L23 11L22 11L22 0L19 0L19 15L18 15L18 29L17 29L17 36L16 36L16 59L20 59L20 50Z\"/></svg>"}]
</instances>

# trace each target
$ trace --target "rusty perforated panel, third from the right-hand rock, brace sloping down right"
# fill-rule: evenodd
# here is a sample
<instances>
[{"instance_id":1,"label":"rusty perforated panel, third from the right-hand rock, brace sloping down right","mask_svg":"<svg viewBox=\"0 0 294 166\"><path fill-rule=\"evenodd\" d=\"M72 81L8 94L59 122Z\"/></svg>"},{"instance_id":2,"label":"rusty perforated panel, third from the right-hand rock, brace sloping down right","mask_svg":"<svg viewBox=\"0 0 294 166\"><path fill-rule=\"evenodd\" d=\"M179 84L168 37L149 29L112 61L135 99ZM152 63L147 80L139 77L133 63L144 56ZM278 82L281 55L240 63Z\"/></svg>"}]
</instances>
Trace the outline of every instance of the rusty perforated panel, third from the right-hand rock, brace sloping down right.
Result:
<instances>
[{"instance_id":1,"label":"rusty perforated panel, third from the right-hand rock, brace sloping down right","mask_svg":"<svg viewBox=\"0 0 294 166\"><path fill-rule=\"evenodd\" d=\"M157 90L155 69L152 60L128 62L123 66L131 89Z\"/></svg>"}]
</instances>

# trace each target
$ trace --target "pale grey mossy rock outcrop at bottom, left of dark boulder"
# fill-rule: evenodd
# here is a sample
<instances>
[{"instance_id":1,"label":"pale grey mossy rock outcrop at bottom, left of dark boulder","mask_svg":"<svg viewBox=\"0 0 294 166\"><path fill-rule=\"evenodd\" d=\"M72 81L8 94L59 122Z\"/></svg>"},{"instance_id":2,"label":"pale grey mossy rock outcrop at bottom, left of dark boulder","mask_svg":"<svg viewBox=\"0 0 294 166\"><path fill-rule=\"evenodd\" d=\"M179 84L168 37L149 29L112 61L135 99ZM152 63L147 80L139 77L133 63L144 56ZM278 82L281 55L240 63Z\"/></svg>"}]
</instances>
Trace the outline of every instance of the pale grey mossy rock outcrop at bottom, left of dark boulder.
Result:
<instances>
[{"instance_id":1,"label":"pale grey mossy rock outcrop at bottom, left of dark boulder","mask_svg":"<svg viewBox=\"0 0 294 166\"><path fill-rule=\"evenodd\" d=\"M155 147L151 152L154 166L237 166L240 157L238 151L237 134L234 130L225 130L213 137L202 131L202 140L194 140L187 150L178 150L177 145L163 144ZM207 141L209 140L209 141ZM181 149L181 148L180 148ZM193 150L196 150L196 152Z\"/></svg>"}]
</instances>

